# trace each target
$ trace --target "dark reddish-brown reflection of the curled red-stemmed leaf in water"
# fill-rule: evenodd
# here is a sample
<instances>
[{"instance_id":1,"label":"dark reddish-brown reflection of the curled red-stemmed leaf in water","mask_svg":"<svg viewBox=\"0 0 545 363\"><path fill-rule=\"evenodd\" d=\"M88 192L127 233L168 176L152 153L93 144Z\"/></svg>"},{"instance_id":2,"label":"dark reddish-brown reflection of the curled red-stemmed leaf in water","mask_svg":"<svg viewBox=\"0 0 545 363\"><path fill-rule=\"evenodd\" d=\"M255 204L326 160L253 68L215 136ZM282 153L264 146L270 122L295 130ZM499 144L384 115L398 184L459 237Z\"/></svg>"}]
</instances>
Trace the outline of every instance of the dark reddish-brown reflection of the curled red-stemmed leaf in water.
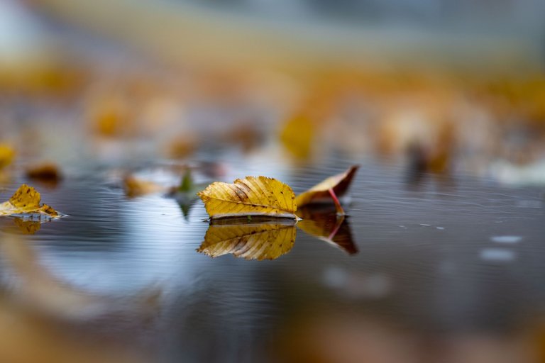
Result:
<instances>
[{"instance_id":1,"label":"dark reddish-brown reflection of the curled red-stemmed leaf in water","mask_svg":"<svg viewBox=\"0 0 545 363\"><path fill-rule=\"evenodd\" d=\"M316 208L305 207L299 209L297 213L303 219L297 223L297 227L309 235L341 248L348 255L358 253L348 219L328 209L316 210Z\"/></svg>"}]
</instances>

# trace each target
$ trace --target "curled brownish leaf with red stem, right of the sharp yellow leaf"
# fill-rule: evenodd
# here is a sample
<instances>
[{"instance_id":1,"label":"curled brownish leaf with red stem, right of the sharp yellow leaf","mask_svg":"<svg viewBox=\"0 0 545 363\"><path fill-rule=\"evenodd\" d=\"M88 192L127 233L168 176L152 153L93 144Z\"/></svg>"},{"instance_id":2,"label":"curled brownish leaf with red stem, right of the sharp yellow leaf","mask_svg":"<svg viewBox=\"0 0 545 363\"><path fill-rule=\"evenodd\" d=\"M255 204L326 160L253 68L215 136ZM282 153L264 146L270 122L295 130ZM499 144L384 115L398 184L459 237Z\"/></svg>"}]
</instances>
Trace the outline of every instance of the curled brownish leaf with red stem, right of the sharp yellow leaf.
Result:
<instances>
[{"instance_id":1,"label":"curled brownish leaf with red stem, right of the sharp yellow leaf","mask_svg":"<svg viewBox=\"0 0 545 363\"><path fill-rule=\"evenodd\" d=\"M304 193L299 194L295 199L297 206L301 207L311 203L333 201L337 213L343 215L344 211L338 198L346 194L348 186L350 186L354 175L358 171L358 167L358 165L353 165L346 172L329 177Z\"/></svg>"}]
</instances>

